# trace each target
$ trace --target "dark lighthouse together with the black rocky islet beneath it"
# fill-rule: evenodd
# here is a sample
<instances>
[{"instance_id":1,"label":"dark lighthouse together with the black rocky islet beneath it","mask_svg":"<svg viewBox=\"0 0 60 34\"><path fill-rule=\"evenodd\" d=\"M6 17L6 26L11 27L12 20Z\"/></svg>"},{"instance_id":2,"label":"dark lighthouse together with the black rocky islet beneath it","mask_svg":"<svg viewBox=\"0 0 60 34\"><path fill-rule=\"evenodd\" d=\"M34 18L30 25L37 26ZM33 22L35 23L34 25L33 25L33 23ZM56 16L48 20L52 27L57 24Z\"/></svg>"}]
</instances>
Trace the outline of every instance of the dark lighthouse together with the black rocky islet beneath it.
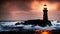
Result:
<instances>
[{"instance_id":1,"label":"dark lighthouse together with the black rocky islet beneath it","mask_svg":"<svg viewBox=\"0 0 60 34\"><path fill-rule=\"evenodd\" d=\"M27 24L32 24L33 26L39 25L42 27L45 27L46 25L51 26L51 22L50 20L48 20L47 5L45 4L43 8L43 20L40 20L40 19L28 20L28 21L25 21L24 25L27 25Z\"/></svg>"}]
</instances>

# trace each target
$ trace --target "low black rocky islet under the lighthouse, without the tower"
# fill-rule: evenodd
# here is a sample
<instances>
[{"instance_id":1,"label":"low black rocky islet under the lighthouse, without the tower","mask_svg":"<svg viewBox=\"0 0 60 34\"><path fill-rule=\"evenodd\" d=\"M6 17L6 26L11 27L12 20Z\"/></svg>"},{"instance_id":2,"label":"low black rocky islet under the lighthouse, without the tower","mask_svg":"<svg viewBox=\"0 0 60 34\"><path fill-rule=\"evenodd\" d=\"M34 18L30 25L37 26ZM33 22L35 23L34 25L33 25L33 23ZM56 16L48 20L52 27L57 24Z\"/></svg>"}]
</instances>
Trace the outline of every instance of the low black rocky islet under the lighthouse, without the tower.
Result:
<instances>
[{"instance_id":1,"label":"low black rocky islet under the lighthouse, without the tower","mask_svg":"<svg viewBox=\"0 0 60 34\"><path fill-rule=\"evenodd\" d=\"M42 26L42 27L45 27L46 25L49 25L51 26L51 22L50 21L44 21L44 20L28 20L28 21L25 21L25 23L23 23L24 25L39 25L39 26Z\"/></svg>"}]
</instances>

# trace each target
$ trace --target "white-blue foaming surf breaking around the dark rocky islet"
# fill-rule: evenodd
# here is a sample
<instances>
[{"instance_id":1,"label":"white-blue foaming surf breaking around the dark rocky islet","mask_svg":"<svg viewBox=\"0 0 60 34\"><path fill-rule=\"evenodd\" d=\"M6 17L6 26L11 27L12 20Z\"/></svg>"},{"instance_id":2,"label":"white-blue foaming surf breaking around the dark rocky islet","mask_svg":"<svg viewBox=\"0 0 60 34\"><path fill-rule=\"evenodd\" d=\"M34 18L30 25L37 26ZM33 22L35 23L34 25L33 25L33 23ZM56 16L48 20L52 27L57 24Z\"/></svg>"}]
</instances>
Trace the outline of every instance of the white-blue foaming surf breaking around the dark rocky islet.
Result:
<instances>
[{"instance_id":1,"label":"white-blue foaming surf breaking around the dark rocky islet","mask_svg":"<svg viewBox=\"0 0 60 34\"><path fill-rule=\"evenodd\" d=\"M41 27L39 25L34 26L34 25L31 25L31 24L30 25L23 25L23 24L15 25L15 23L14 22L13 23L8 23L8 24L7 23L2 23L2 24L6 24L6 25L0 25L0 31L4 30L3 27L6 27L6 26L11 27L11 28L13 28L13 27L22 27L22 29L26 29L26 30L31 30L31 29L33 29L33 30L35 30L35 29L39 29L39 30L44 30L44 29L45 30L56 30L56 29L60 28L60 23L57 23L57 21L51 21L52 25L51 26L46 25L45 27Z\"/></svg>"}]
</instances>

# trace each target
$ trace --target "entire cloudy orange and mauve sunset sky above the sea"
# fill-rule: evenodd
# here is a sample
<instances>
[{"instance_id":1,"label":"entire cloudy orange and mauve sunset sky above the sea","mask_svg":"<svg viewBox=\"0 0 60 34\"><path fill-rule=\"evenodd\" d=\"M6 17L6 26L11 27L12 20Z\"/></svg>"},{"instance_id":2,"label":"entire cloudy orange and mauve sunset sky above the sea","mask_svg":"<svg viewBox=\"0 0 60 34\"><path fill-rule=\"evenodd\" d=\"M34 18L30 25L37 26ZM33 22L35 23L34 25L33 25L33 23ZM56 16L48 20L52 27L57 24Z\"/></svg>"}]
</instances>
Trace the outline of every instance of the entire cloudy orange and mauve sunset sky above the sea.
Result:
<instances>
[{"instance_id":1,"label":"entire cloudy orange and mauve sunset sky above the sea","mask_svg":"<svg viewBox=\"0 0 60 34\"><path fill-rule=\"evenodd\" d=\"M60 0L1 0L0 20L43 19L44 4L48 19L60 20Z\"/></svg>"}]
</instances>

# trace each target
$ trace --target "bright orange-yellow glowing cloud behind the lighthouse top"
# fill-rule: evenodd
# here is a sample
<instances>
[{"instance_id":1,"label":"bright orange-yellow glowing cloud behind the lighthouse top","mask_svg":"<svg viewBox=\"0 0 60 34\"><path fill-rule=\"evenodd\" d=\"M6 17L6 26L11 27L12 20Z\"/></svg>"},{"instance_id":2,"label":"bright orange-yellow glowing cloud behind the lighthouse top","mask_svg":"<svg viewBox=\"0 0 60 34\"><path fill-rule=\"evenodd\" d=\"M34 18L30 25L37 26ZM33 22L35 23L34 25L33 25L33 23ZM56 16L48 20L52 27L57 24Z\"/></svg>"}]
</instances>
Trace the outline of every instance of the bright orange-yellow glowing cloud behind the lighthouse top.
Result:
<instances>
[{"instance_id":1,"label":"bright orange-yellow glowing cloud behind the lighthouse top","mask_svg":"<svg viewBox=\"0 0 60 34\"><path fill-rule=\"evenodd\" d=\"M42 1L42 2L38 2L38 1L32 2L31 8L32 8L33 11L40 11L41 12L44 8L44 4L47 5L47 8L48 8L49 11L57 10L57 8L58 8L57 3L55 3L55 2L50 3L50 2L44 2L44 1Z\"/></svg>"}]
</instances>

